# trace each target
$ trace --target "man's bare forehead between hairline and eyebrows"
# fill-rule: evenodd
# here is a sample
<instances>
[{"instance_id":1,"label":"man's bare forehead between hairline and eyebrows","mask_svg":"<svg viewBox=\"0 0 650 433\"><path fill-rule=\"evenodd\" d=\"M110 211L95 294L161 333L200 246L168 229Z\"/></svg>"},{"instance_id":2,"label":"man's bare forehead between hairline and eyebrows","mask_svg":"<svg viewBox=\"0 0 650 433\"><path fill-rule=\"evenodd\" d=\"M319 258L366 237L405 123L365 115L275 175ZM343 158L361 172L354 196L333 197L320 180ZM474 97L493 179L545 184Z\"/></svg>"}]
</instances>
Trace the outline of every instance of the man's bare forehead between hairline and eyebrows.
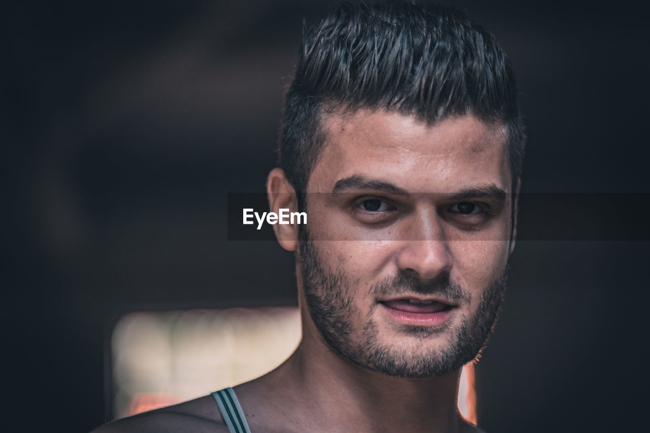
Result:
<instances>
[{"instance_id":1,"label":"man's bare forehead between hairline and eyebrows","mask_svg":"<svg viewBox=\"0 0 650 433\"><path fill-rule=\"evenodd\" d=\"M433 125L394 111L359 110L324 121L326 140L308 190L344 177L389 181L408 192L454 192L495 184L508 191L506 130L471 114Z\"/></svg>"}]
</instances>

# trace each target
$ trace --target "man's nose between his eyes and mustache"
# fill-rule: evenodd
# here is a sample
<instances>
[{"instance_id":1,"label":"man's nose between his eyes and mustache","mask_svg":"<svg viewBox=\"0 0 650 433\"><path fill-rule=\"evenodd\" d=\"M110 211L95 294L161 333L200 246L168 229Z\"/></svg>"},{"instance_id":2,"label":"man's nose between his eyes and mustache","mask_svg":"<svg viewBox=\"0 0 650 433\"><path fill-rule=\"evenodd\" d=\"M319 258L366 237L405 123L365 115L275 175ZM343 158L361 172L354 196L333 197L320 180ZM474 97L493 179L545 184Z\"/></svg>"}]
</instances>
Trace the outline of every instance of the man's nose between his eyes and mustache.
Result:
<instances>
[{"instance_id":1,"label":"man's nose between his eyes and mustache","mask_svg":"<svg viewBox=\"0 0 650 433\"><path fill-rule=\"evenodd\" d=\"M452 255L435 212L413 215L413 221L404 235L406 240L397 257L400 270L407 274L415 273L422 280L437 278L451 271Z\"/></svg>"}]
</instances>

